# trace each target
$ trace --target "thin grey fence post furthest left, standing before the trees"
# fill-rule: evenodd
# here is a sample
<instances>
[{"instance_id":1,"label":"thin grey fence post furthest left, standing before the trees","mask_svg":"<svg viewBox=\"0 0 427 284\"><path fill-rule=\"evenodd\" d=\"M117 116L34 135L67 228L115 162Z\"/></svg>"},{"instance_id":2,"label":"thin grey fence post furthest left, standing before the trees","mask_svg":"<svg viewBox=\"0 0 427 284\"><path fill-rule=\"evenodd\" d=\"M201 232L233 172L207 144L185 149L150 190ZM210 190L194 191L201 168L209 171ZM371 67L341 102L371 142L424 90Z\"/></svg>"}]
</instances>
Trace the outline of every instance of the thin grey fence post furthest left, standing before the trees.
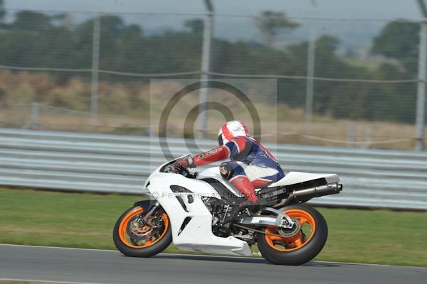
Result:
<instances>
[{"instance_id":1,"label":"thin grey fence post furthest left, standing before the trees","mask_svg":"<svg viewBox=\"0 0 427 284\"><path fill-rule=\"evenodd\" d=\"M92 38L92 85L90 92L90 125L97 125L98 112L98 90L99 90L99 69L100 69L100 33L101 15L96 14L93 18L93 38Z\"/></svg>"}]
</instances>

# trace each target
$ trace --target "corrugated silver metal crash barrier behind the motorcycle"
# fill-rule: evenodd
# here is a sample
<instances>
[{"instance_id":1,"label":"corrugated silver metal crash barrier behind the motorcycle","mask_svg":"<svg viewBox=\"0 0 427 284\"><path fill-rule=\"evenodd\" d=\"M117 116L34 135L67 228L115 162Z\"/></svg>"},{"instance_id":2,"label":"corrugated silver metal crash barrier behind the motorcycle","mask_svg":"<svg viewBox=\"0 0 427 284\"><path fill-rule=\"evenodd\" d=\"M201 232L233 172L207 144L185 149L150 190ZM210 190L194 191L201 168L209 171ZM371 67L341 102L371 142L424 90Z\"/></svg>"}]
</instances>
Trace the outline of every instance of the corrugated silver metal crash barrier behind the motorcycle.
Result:
<instances>
[{"instance_id":1,"label":"corrugated silver metal crash barrier behind the motorcycle","mask_svg":"<svg viewBox=\"0 0 427 284\"><path fill-rule=\"evenodd\" d=\"M189 153L183 139L167 141L175 156ZM203 150L216 145L197 141ZM285 171L340 176L342 193L313 204L427 209L427 153L266 146ZM0 185L142 193L149 173L164 161L158 138L0 129Z\"/></svg>"}]
</instances>

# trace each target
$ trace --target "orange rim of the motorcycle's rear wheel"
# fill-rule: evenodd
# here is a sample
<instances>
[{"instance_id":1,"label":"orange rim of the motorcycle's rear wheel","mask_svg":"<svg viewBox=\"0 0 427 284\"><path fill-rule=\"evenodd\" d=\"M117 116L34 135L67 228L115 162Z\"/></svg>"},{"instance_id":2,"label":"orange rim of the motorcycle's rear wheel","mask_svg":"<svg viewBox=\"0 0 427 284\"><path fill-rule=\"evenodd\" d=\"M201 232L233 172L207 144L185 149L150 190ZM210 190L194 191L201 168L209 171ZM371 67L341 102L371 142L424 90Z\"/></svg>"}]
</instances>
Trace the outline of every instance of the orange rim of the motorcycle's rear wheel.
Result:
<instances>
[{"instance_id":1,"label":"orange rim of the motorcycle's rear wheel","mask_svg":"<svg viewBox=\"0 0 427 284\"><path fill-rule=\"evenodd\" d=\"M268 234L278 234L278 229L275 227L267 227L265 228L265 241L267 244L271 246L273 249L278 251L295 251L297 249L301 249L303 246L308 244L316 231L316 222L315 218L312 217L310 213L301 209L288 209L284 211L292 219L297 219L301 224L302 229L307 229L306 226L310 226L310 236L305 236L302 234L302 229L295 234L295 236L291 236L290 238L280 237L280 236L271 236ZM280 244L280 246L278 246Z\"/></svg>"}]
</instances>

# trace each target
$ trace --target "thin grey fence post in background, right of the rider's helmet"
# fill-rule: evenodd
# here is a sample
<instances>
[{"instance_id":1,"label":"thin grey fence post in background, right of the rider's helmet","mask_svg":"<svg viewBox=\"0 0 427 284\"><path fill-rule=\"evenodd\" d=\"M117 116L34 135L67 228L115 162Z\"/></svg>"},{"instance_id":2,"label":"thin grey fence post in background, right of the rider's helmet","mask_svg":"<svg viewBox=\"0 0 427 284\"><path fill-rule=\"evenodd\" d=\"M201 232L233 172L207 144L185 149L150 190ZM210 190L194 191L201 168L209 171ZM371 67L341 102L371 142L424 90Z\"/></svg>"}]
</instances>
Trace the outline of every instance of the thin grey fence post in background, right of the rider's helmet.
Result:
<instances>
[{"instance_id":1,"label":"thin grey fence post in background, right of the rider's helmet","mask_svg":"<svg viewBox=\"0 0 427 284\"><path fill-rule=\"evenodd\" d=\"M314 80L315 77L315 53L316 53L316 26L310 23L310 35L308 39L307 50L307 86L305 97L305 133L310 134L312 129L313 118L313 97L314 97Z\"/></svg>"}]
</instances>

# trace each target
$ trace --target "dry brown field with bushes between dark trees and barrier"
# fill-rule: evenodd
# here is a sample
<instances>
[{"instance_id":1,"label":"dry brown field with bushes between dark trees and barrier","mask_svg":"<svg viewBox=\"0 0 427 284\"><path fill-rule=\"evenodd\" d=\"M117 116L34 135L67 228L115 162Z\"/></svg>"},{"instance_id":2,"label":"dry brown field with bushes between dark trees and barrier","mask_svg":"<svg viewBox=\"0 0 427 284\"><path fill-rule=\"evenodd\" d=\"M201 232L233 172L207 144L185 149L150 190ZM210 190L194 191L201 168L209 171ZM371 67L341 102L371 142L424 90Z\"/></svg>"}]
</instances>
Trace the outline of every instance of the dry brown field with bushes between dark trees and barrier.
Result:
<instances>
[{"instance_id":1,"label":"dry brown field with bushes between dark trees and barrier","mask_svg":"<svg viewBox=\"0 0 427 284\"><path fill-rule=\"evenodd\" d=\"M352 64L365 65L367 62L355 61ZM375 65L377 62L371 64ZM165 104L174 92L184 86L173 81L169 83L154 87L153 90L147 82L100 82L100 115L96 126L93 126L89 113L88 82L75 78L58 84L54 77L45 73L14 73L1 70L0 85L4 88L4 94L1 95L0 92L0 127L33 127L31 103L39 102L37 128L41 130L147 136L148 126L152 126L151 130L156 134L158 119ZM356 148L413 150L415 127L411 124L361 119L352 123L349 119L337 119L325 112L313 116L310 136L305 136L305 106L291 107L290 104L276 102L274 94L270 94L272 101L266 102L265 98L259 95L264 94L265 90L258 84L252 84L248 91L248 97L262 122L263 136L255 138L264 142L347 147L347 141L350 139L354 141ZM211 91L209 98L226 105L233 111L236 119L246 121L252 129L252 118L238 99L219 91ZM199 102L198 92L185 97L174 107L167 124L168 137L182 137L183 132L194 130L183 129L183 126L195 102ZM218 128L224 121L223 114L211 110L208 116L206 131L209 138L216 139Z\"/></svg>"}]
</instances>

